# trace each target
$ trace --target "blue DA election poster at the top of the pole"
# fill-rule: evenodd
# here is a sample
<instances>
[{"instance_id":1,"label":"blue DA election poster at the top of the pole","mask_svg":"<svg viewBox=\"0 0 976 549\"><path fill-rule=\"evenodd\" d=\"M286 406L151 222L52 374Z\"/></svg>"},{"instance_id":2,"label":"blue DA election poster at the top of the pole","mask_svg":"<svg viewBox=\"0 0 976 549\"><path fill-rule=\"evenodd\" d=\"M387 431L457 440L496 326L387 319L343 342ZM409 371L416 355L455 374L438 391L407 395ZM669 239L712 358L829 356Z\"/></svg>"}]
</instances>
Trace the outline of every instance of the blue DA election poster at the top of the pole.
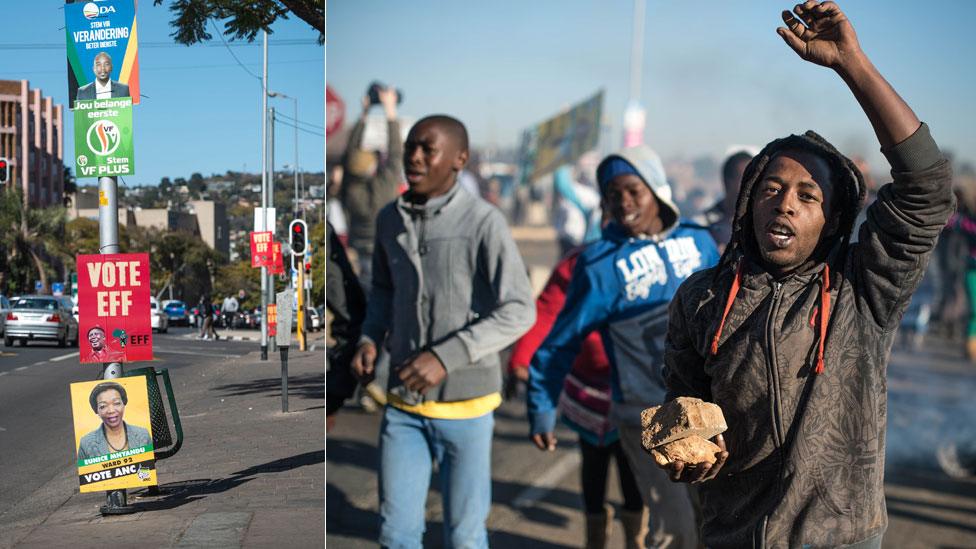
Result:
<instances>
[{"instance_id":1,"label":"blue DA election poster at the top of the pole","mask_svg":"<svg viewBox=\"0 0 976 549\"><path fill-rule=\"evenodd\" d=\"M131 97L139 104L139 47L133 0L64 6L68 106L76 99Z\"/></svg>"}]
</instances>

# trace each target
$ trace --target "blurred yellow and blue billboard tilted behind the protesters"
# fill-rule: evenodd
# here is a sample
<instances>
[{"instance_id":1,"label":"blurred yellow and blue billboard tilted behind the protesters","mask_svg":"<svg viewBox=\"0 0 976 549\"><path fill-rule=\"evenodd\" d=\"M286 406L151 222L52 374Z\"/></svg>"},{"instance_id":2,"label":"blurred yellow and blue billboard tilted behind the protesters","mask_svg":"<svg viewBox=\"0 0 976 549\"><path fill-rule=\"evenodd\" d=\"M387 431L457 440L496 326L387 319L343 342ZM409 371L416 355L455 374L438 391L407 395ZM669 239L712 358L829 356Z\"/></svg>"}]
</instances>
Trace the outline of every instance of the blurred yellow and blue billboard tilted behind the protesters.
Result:
<instances>
[{"instance_id":1,"label":"blurred yellow and blue billboard tilted behind the protesters","mask_svg":"<svg viewBox=\"0 0 976 549\"><path fill-rule=\"evenodd\" d=\"M522 134L519 164L523 182L575 162L600 140L603 90Z\"/></svg>"}]
</instances>

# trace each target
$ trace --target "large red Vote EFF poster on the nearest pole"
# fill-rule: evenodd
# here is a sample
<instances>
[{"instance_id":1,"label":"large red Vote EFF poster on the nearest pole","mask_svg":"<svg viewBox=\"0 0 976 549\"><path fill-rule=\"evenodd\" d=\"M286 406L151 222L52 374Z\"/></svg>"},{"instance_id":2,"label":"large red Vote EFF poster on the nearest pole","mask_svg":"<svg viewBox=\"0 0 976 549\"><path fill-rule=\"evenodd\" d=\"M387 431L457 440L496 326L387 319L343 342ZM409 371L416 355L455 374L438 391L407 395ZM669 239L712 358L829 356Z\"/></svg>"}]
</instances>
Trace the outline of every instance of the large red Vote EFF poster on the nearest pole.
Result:
<instances>
[{"instance_id":1,"label":"large red Vote EFF poster on the nearest pole","mask_svg":"<svg viewBox=\"0 0 976 549\"><path fill-rule=\"evenodd\" d=\"M149 254L77 259L81 362L152 360Z\"/></svg>"}]
</instances>

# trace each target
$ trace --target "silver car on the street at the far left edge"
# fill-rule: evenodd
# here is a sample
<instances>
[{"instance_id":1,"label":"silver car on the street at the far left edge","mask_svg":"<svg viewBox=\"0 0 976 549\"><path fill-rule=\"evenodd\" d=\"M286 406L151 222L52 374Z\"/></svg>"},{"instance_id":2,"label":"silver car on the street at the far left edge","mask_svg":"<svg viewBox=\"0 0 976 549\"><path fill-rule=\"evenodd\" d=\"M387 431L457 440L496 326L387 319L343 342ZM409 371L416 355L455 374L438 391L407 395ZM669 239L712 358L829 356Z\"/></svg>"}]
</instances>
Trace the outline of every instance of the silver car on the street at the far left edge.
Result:
<instances>
[{"instance_id":1,"label":"silver car on the street at the far left edge","mask_svg":"<svg viewBox=\"0 0 976 549\"><path fill-rule=\"evenodd\" d=\"M56 341L64 347L78 345L78 323L71 316L71 298L27 295L11 301L4 316L3 344L21 346L34 340Z\"/></svg>"}]
</instances>

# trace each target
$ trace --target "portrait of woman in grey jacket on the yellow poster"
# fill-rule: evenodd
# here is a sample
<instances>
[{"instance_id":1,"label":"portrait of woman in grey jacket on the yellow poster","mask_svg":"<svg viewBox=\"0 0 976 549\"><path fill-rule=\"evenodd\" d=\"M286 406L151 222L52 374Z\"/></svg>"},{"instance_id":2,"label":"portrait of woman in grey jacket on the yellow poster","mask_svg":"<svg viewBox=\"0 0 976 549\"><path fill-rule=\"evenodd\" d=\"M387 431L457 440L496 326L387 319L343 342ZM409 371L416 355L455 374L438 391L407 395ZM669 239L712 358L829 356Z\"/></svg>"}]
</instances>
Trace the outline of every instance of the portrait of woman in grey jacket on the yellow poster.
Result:
<instances>
[{"instance_id":1,"label":"portrait of woman in grey jacket on the yellow poster","mask_svg":"<svg viewBox=\"0 0 976 549\"><path fill-rule=\"evenodd\" d=\"M122 420L129 397L125 387L107 381L99 383L88 397L92 411L98 414L102 424L81 438L78 446L78 459L103 456L131 448L139 448L152 443L149 431L142 427L129 425Z\"/></svg>"}]
</instances>

